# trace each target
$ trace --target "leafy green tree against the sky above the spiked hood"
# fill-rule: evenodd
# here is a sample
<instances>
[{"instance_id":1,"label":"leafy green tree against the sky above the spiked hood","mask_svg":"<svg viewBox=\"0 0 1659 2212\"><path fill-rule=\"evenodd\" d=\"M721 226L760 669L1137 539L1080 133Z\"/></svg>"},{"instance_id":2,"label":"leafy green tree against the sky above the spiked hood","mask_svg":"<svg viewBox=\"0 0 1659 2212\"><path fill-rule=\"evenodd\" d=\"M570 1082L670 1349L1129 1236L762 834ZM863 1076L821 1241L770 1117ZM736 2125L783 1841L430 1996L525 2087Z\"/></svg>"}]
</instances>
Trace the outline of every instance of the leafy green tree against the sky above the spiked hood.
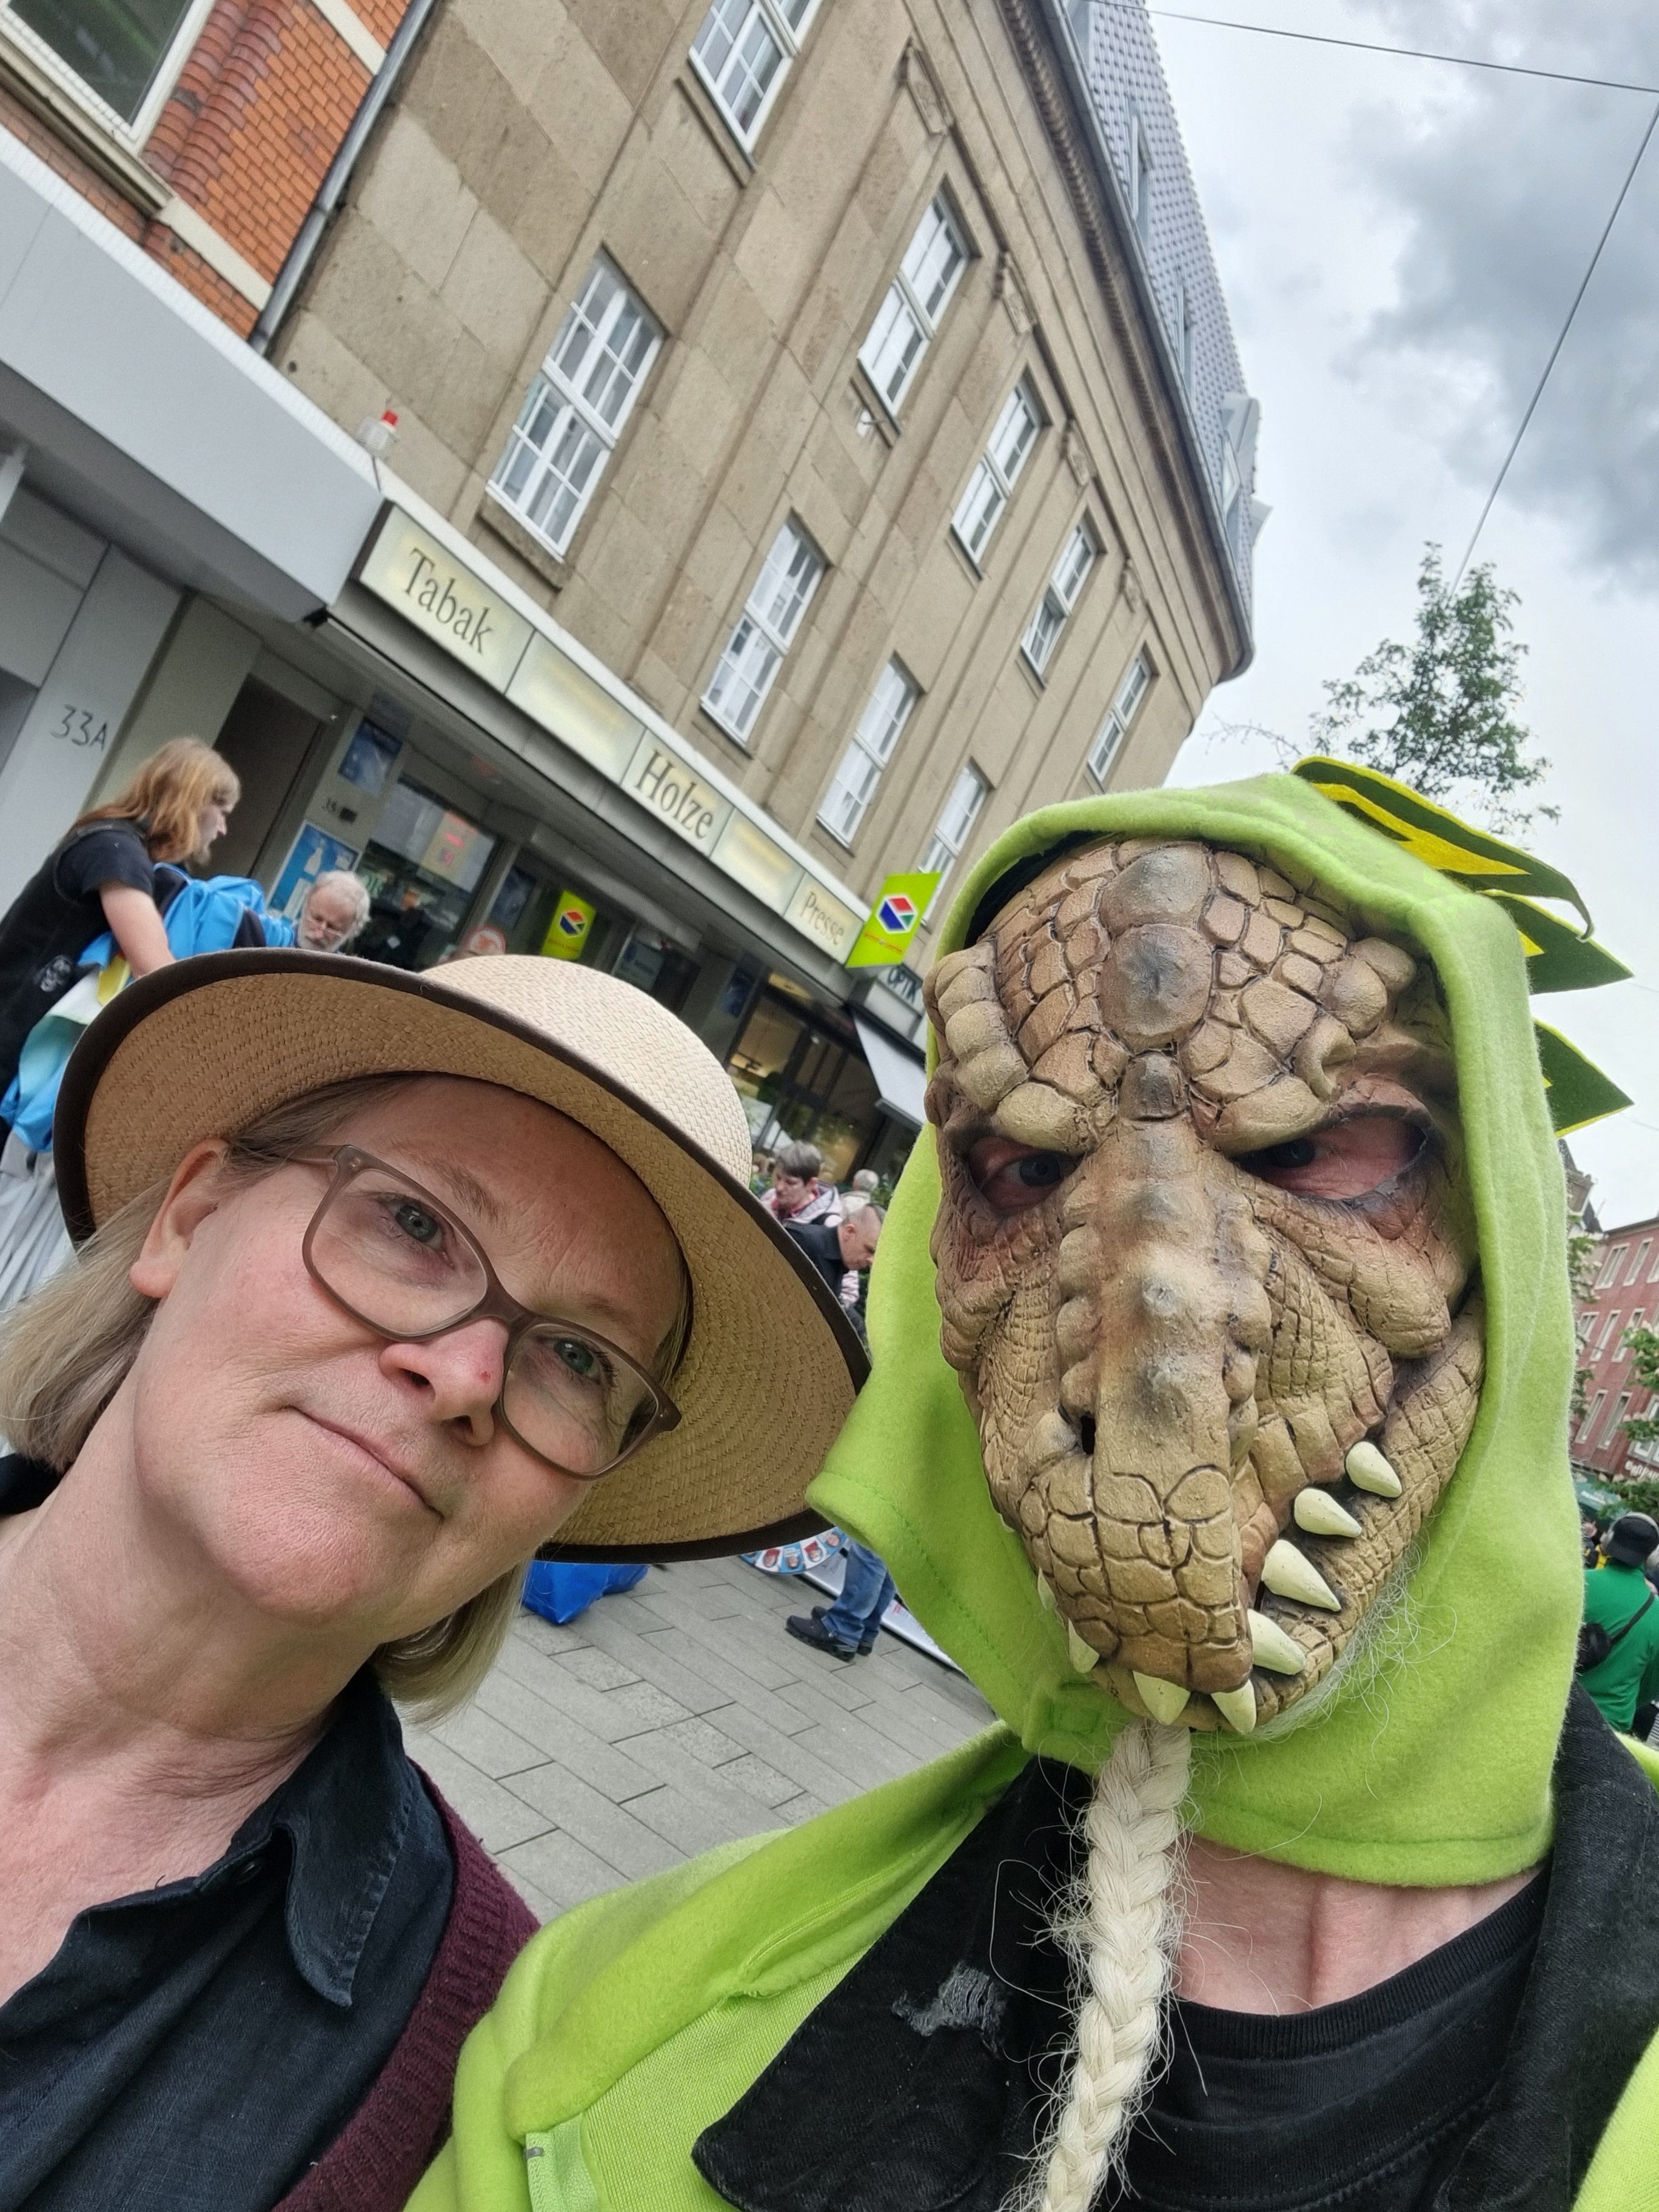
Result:
<instances>
[{"instance_id":1,"label":"leafy green tree against the sky above the spiked hood","mask_svg":"<svg viewBox=\"0 0 1659 2212\"><path fill-rule=\"evenodd\" d=\"M1389 637L1352 677L1325 684L1325 712L1310 726L1318 748L1455 812L1484 814L1502 836L1524 834L1535 814L1555 821L1555 807L1517 805L1551 763L1533 754L1533 732L1515 719L1526 655L1513 637L1515 604L1491 562L1453 586L1440 546L1425 546L1413 641Z\"/></svg>"}]
</instances>

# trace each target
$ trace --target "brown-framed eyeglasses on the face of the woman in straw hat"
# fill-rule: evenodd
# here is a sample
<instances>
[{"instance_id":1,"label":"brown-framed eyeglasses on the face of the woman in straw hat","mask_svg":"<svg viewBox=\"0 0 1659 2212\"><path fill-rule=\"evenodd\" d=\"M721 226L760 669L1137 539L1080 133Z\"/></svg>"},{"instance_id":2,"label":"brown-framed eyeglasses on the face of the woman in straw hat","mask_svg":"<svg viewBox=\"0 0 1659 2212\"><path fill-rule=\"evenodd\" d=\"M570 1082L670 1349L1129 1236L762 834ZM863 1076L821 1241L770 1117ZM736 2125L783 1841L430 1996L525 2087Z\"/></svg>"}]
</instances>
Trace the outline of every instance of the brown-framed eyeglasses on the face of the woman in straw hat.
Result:
<instances>
[{"instance_id":1,"label":"brown-framed eyeglasses on the face of the woman in straw hat","mask_svg":"<svg viewBox=\"0 0 1659 2212\"><path fill-rule=\"evenodd\" d=\"M387 1343L409 1345L467 1321L507 1323L493 1411L538 1460L595 1482L677 1427L679 1407L626 1352L520 1305L478 1239L400 1168L354 1144L288 1157L332 1170L301 1254L345 1314Z\"/></svg>"}]
</instances>

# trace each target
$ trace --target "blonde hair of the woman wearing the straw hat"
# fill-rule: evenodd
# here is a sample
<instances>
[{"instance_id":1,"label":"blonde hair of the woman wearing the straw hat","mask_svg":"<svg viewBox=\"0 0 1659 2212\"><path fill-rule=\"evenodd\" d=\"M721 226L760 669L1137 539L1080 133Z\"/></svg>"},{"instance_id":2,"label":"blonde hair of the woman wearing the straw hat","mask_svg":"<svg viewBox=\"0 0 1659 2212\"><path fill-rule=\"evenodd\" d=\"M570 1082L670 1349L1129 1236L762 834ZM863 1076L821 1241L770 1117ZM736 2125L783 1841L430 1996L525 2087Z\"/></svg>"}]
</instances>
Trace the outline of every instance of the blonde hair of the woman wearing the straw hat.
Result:
<instances>
[{"instance_id":1,"label":"blonde hair of the woman wearing the straw hat","mask_svg":"<svg viewBox=\"0 0 1659 2212\"><path fill-rule=\"evenodd\" d=\"M268 1175L407 1082L418 1077L372 1075L276 1106L230 1139L228 1164L248 1181ZM133 1290L128 1270L164 1197L166 1183L153 1183L128 1199L0 1329L0 1433L58 1473L80 1455L150 1327L155 1301ZM383 1644L372 1663L387 1694L422 1719L462 1705L502 1648L522 1584L524 1564L429 1628Z\"/></svg>"}]
</instances>

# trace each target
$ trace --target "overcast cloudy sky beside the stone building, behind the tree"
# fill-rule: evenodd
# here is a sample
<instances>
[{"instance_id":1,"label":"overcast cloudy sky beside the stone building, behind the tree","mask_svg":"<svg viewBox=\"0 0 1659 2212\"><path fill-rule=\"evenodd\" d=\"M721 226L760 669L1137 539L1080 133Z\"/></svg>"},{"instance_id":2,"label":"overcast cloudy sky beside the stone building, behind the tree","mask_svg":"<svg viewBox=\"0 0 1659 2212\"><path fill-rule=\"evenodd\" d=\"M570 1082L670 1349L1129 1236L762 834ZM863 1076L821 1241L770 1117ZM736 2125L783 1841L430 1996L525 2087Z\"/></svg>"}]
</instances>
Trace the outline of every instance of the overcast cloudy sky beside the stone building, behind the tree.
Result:
<instances>
[{"instance_id":1,"label":"overcast cloudy sky beside the stone building, behind the tree","mask_svg":"<svg viewBox=\"0 0 1659 2212\"><path fill-rule=\"evenodd\" d=\"M1652 0L1190 0L1197 11L1659 84ZM1407 637L1462 557L1655 102L1252 38L1155 11L1263 407L1256 659L1172 781L1274 765L1321 679ZM1522 595L1531 845L1637 980L1540 1002L1635 1099L1571 1139L1606 1223L1659 1210L1659 133L1480 542ZM1312 748L1310 748L1312 750Z\"/></svg>"}]
</instances>

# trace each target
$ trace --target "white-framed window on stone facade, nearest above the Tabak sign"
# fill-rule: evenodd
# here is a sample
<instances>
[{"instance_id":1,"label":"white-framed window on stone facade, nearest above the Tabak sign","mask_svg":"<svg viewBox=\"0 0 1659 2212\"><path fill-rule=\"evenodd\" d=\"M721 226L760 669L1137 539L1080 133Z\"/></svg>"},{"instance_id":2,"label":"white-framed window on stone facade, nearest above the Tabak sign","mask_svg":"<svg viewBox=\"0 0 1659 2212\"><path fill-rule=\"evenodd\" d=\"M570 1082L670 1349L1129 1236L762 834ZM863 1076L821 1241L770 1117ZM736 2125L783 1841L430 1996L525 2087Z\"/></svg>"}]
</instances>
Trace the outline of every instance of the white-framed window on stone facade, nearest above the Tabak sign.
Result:
<instances>
[{"instance_id":1,"label":"white-framed window on stone facade, nearest above the Tabak sign","mask_svg":"<svg viewBox=\"0 0 1659 2212\"><path fill-rule=\"evenodd\" d=\"M661 330L599 254L524 394L491 491L562 553L604 476Z\"/></svg>"}]
</instances>

